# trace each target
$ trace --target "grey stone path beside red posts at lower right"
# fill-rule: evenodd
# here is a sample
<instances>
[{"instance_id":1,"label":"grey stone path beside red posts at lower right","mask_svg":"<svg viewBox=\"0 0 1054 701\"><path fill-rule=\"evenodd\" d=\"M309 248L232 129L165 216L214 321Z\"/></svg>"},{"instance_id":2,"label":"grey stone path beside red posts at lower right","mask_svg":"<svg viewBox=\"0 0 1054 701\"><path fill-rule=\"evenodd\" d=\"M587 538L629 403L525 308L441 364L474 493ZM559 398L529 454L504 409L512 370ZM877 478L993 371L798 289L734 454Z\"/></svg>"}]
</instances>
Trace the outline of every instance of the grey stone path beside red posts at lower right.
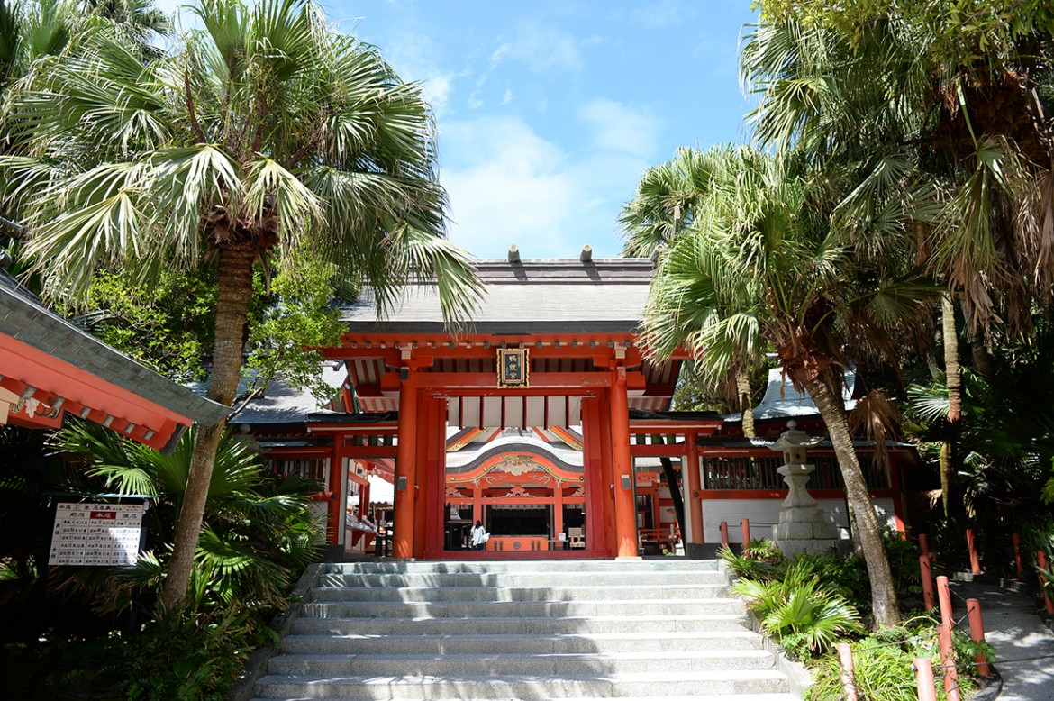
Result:
<instances>
[{"instance_id":1,"label":"grey stone path beside red posts at lower right","mask_svg":"<svg viewBox=\"0 0 1054 701\"><path fill-rule=\"evenodd\" d=\"M981 582L951 582L955 620L965 600L981 603L985 639L996 649L1002 677L999 701L1054 701L1054 632L1045 624L1031 595ZM967 621L960 624L969 630Z\"/></svg>"}]
</instances>

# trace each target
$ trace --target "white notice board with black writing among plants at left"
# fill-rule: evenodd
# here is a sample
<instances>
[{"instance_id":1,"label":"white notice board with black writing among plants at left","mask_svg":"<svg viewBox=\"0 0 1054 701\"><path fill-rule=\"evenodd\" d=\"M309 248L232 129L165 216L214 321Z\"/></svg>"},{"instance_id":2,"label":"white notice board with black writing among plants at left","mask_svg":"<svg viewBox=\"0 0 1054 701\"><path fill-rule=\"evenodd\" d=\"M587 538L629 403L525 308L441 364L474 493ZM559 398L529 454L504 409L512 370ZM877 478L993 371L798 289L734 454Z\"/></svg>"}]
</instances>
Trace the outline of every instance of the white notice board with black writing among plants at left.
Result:
<instances>
[{"instance_id":1,"label":"white notice board with black writing among plants at left","mask_svg":"<svg viewBox=\"0 0 1054 701\"><path fill-rule=\"evenodd\" d=\"M48 565L134 565L143 504L58 504Z\"/></svg>"}]
</instances>

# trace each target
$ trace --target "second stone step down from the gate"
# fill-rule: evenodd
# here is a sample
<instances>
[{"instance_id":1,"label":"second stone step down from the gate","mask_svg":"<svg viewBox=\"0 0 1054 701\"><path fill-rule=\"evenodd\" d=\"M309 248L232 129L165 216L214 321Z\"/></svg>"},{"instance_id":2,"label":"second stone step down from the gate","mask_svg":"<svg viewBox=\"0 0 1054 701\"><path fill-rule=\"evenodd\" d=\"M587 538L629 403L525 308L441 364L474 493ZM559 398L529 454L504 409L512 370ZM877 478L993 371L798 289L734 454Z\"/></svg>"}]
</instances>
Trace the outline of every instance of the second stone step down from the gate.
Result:
<instances>
[{"instance_id":1,"label":"second stone step down from the gate","mask_svg":"<svg viewBox=\"0 0 1054 701\"><path fill-rule=\"evenodd\" d=\"M330 572L319 577L320 586L351 587L450 587L450 586L585 586L602 582L609 586L686 584L722 585L725 573L705 570L619 571L512 571L512 572Z\"/></svg>"}]
</instances>

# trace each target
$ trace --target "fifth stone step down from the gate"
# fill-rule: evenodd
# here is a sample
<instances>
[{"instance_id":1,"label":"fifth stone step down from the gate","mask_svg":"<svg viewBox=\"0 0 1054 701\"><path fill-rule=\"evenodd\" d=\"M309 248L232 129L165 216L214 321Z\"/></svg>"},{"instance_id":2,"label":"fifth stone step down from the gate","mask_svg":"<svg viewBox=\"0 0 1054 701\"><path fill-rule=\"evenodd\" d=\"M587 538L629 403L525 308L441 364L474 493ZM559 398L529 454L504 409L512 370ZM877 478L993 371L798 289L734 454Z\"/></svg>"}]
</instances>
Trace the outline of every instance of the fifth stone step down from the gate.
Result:
<instances>
[{"instance_id":1,"label":"fifth stone step down from the gate","mask_svg":"<svg viewBox=\"0 0 1054 701\"><path fill-rule=\"evenodd\" d=\"M699 632L748 630L745 612L720 615L658 616L637 611L630 616L566 616L559 618L300 618L293 621L295 635L332 636L457 636L457 635L573 635L640 632Z\"/></svg>"}]
</instances>

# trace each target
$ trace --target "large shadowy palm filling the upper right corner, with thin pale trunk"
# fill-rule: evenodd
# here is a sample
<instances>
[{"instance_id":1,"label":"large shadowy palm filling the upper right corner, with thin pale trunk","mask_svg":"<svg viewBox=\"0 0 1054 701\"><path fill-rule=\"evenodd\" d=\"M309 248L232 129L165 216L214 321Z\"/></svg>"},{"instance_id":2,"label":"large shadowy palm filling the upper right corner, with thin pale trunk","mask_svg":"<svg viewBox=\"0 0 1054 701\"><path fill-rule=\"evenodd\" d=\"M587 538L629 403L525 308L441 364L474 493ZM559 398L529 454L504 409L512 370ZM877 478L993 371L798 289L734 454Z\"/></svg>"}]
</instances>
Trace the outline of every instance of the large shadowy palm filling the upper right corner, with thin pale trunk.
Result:
<instances>
[{"instance_id":1,"label":"large shadowy palm filling the upper right corner, with thin pale trunk","mask_svg":"<svg viewBox=\"0 0 1054 701\"><path fill-rule=\"evenodd\" d=\"M839 218L870 245L916 230L914 255L961 300L972 334L996 314L1027 326L1054 283L1049 9L762 4L742 53L744 81L760 96L750 115L759 141L794 142L853 181ZM946 513L962 404L951 304L942 322Z\"/></svg>"}]
</instances>

